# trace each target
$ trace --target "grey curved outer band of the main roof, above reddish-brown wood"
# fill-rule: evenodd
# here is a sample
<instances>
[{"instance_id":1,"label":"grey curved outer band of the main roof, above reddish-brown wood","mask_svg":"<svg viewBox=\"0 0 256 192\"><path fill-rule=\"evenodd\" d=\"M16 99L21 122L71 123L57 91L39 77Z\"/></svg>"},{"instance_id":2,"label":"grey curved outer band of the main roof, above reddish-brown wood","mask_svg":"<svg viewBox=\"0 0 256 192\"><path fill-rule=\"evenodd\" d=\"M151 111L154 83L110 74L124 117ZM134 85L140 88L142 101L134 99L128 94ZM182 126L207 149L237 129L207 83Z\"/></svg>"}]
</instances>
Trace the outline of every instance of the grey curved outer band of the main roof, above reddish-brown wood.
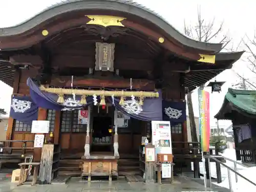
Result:
<instances>
[{"instance_id":1,"label":"grey curved outer band of the main roof, above reddish-brown wood","mask_svg":"<svg viewBox=\"0 0 256 192\"><path fill-rule=\"evenodd\" d=\"M61 3L57 3L51 7L48 7L44 11L38 13L34 17L26 20L24 23L16 25L14 27L0 28L0 39L4 37L11 37L20 35L32 30L36 26L46 22L47 20L56 17L60 14L69 13L72 11L87 11L87 10L106 10L106 11L117 11L126 13L129 15L137 16L145 19L148 22L157 26L160 30L165 33L169 38L175 39L177 42L188 48L197 50L203 50L206 52L217 53L221 50L222 44L210 44L205 42L196 41L186 37L185 35L178 32L173 26L168 24L161 16L156 12L147 9L145 6L140 5L133 1L124 0L67 0ZM111 13L111 12L110 12ZM143 24L142 24L143 25ZM10 47L9 47L10 48ZM0 44L0 49L4 50L5 46Z\"/></svg>"}]
</instances>

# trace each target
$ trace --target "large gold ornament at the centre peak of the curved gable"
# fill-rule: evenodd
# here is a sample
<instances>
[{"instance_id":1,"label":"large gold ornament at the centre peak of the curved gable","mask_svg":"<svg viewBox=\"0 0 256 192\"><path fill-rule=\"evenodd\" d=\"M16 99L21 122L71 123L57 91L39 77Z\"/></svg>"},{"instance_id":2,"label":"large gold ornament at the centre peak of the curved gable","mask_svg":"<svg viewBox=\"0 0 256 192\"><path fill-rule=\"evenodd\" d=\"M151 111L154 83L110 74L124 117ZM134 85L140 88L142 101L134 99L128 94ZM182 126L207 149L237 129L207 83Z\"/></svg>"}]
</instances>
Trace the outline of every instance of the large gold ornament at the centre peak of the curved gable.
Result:
<instances>
[{"instance_id":1,"label":"large gold ornament at the centre peak of the curved gable","mask_svg":"<svg viewBox=\"0 0 256 192\"><path fill-rule=\"evenodd\" d=\"M90 22L88 22L87 24L101 25L103 27L108 27L108 26L124 27L121 21L123 19L126 19L124 17L117 17L117 16L110 16L110 15L85 15L85 16L91 19Z\"/></svg>"}]
</instances>

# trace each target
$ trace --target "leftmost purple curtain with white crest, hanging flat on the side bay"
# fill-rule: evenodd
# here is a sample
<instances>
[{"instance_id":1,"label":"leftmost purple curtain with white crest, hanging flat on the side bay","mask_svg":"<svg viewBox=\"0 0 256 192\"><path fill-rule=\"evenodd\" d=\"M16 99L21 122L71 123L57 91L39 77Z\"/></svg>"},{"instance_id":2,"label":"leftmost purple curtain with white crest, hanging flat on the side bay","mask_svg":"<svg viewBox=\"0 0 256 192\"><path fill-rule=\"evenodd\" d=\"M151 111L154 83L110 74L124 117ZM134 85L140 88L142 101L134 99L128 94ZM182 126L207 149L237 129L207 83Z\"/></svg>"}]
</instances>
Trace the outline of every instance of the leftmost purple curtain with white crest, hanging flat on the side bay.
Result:
<instances>
[{"instance_id":1,"label":"leftmost purple curtain with white crest, hanging flat on the side bay","mask_svg":"<svg viewBox=\"0 0 256 192\"><path fill-rule=\"evenodd\" d=\"M13 96L10 116L13 119L31 125L33 120L37 120L38 106L31 97Z\"/></svg>"}]
</instances>

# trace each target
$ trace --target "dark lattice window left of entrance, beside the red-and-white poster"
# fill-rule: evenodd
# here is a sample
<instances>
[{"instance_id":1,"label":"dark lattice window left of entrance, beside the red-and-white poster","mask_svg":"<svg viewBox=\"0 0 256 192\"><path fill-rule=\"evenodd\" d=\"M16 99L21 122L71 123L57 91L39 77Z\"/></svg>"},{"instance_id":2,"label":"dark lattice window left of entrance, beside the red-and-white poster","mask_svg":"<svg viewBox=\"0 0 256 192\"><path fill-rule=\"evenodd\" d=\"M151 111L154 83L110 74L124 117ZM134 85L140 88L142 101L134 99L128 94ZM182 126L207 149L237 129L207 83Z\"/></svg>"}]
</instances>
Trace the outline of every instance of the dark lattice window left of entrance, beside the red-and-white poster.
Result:
<instances>
[{"instance_id":1,"label":"dark lattice window left of entrance, beside the red-and-white poster","mask_svg":"<svg viewBox=\"0 0 256 192\"><path fill-rule=\"evenodd\" d=\"M78 110L61 113L61 132L86 132L87 124L78 124Z\"/></svg>"}]
</instances>

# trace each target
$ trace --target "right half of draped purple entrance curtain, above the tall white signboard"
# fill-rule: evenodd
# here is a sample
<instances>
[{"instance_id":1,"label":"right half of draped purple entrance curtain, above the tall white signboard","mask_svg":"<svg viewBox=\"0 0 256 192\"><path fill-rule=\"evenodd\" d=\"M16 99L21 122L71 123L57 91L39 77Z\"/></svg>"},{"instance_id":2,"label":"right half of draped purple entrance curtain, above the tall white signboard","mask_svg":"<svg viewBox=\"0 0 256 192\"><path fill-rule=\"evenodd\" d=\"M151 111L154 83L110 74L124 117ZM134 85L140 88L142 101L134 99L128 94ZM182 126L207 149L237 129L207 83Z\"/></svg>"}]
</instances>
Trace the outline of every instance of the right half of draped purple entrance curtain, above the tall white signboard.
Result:
<instances>
[{"instance_id":1,"label":"right half of draped purple entrance curtain, above the tall white signboard","mask_svg":"<svg viewBox=\"0 0 256 192\"><path fill-rule=\"evenodd\" d=\"M113 102L111 97L108 99ZM117 110L134 119L142 121L161 121L162 120L162 94L159 98L145 98L143 105L139 101L126 98L125 105L119 104L120 99L114 98L114 105Z\"/></svg>"}]
</instances>

